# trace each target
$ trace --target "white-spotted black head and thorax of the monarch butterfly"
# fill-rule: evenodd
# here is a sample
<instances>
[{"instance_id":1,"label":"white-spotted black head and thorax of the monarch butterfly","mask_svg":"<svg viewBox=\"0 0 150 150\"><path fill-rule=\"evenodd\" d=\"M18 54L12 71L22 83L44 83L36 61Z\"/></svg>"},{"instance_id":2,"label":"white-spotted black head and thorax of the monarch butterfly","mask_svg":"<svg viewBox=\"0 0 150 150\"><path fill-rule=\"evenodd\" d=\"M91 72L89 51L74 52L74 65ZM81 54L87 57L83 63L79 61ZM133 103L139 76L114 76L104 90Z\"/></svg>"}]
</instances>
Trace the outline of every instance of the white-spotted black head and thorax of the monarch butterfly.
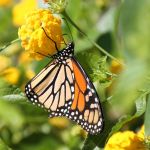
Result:
<instances>
[{"instance_id":1,"label":"white-spotted black head and thorax of the monarch butterfly","mask_svg":"<svg viewBox=\"0 0 150 150\"><path fill-rule=\"evenodd\" d=\"M56 59L58 62L62 62L74 55L74 43L70 42L65 48L59 51L57 54L53 55L52 58Z\"/></svg>"}]
</instances>

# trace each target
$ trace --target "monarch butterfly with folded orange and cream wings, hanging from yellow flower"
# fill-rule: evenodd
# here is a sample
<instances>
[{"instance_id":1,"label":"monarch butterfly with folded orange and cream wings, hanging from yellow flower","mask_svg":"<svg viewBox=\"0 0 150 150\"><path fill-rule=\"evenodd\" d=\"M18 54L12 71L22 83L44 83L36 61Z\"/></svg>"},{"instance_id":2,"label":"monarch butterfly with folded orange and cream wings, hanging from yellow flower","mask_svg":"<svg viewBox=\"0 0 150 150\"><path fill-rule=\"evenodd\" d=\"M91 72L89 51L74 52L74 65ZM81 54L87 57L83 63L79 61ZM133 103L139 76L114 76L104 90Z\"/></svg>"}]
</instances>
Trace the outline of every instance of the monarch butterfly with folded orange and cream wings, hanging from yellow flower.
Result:
<instances>
[{"instance_id":1,"label":"monarch butterfly with folded orange and cream wings, hanging from yellow flower","mask_svg":"<svg viewBox=\"0 0 150 150\"><path fill-rule=\"evenodd\" d=\"M100 133L104 120L99 97L74 57L74 43L68 43L52 58L53 61L25 86L28 99L46 108L49 117L65 116L89 134Z\"/></svg>"}]
</instances>

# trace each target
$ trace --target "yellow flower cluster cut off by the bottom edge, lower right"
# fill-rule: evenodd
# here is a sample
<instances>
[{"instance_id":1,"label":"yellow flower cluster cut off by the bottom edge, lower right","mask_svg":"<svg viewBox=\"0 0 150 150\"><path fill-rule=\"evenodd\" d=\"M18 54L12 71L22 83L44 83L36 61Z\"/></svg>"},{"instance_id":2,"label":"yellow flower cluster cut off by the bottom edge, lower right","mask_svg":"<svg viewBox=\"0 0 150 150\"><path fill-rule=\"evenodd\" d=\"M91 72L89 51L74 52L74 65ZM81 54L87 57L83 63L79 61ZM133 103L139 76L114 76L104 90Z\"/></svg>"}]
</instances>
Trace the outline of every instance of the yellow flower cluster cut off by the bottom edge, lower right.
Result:
<instances>
[{"instance_id":1,"label":"yellow flower cluster cut off by the bottom edge, lower right","mask_svg":"<svg viewBox=\"0 0 150 150\"><path fill-rule=\"evenodd\" d=\"M117 132L110 137L104 150L146 150L144 141L132 131Z\"/></svg>"}]
</instances>

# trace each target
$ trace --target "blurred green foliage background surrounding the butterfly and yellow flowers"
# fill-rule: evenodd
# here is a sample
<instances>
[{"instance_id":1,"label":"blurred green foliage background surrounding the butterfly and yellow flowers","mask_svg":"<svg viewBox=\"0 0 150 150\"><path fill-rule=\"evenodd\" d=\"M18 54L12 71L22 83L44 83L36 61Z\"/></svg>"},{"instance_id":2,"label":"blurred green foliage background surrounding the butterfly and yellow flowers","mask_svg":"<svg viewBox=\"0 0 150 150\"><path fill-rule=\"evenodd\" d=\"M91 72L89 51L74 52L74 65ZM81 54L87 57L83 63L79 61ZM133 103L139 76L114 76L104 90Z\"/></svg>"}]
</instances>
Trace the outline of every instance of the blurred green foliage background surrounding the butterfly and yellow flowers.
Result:
<instances>
[{"instance_id":1,"label":"blurred green foliage background surrounding the butterfly and yellow flowers","mask_svg":"<svg viewBox=\"0 0 150 150\"><path fill-rule=\"evenodd\" d=\"M17 37L12 8L0 7L1 46ZM146 136L150 136L149 10L149 0L71 0L68 3L66 12L71 19L90 39L125 63L117 72L113 60L70 25L75 57L95 83L105 118L102 133L88 135L85 142L85 133L75 123L69 121L69 126L59 128L50 123L47 112L27 101L24 84L29 79L25 76L26 66L19 61L23 52L20 43L15 51L11 47L4 50L1 55L11 59L10 66L18 68L21 75L16 85L0 76L0 150L92 150L96 146L99 149L104 148L113 133L124 127L136 130L143 124ZM63 31L69 33L65 25ZM34 61L29 67L38 73L48 62L47 58Z\"/></svg>"}]
</instances>

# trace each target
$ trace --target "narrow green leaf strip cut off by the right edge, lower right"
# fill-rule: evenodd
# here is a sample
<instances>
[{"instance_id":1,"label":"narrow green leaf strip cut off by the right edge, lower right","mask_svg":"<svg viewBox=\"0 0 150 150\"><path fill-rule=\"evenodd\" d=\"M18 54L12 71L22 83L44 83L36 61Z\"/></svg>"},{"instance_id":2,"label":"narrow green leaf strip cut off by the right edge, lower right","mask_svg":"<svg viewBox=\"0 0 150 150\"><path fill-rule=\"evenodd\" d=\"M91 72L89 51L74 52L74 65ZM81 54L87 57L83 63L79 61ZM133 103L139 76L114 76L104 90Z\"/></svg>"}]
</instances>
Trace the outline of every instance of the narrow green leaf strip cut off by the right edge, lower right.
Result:
<instances>
[{"instance_id":1,"label":"narrow green leaf strip cut off by the right edge, lower right","mask_svg":"<svg viewBox=\"0 0 150 150\"><path fill-rule=\"evenodd\" d=\"M145 136L150 136L150 95L147 95L147 107L145 113Z\"/></svg>"}]
</instances>

